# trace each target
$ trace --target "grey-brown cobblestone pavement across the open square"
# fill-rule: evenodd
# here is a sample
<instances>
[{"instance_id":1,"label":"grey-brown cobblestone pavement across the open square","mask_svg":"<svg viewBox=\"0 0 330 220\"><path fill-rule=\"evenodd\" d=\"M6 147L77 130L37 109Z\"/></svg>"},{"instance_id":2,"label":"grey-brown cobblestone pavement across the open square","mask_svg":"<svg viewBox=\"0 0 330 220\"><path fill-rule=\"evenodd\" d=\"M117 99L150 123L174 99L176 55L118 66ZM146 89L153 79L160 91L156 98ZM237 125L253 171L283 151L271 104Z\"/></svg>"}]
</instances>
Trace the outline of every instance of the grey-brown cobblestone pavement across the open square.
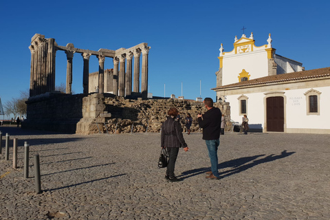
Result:
<instances>
[{"instance_id":1,"label":"grey-brown cobblestone pavement across the open square","mask_svg":"<svg viewBox=\"0 0 330 220\"><path fill-rule=\"evenodd\" d=\"M168 182L157 168L159 133L63 135L0 127L19 139L17 170L0 156L0 219L330 219L330 135L225 133L220 180L201 133L184 135ZM23 174L23 144L30 174ZM34 186L34 155L41 188Z\"/></svg>"}]
</instances>

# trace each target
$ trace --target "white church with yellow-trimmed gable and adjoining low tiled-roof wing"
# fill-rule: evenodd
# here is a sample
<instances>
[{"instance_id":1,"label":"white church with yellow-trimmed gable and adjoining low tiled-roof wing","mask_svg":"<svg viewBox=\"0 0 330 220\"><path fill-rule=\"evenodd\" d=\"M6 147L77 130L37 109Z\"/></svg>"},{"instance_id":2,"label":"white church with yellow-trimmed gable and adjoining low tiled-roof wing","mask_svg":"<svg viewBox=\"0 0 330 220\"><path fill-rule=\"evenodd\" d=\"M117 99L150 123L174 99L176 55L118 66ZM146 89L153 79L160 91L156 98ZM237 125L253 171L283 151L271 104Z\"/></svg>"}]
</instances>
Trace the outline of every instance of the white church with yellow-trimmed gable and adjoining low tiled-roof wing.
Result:
<instances>
[{"instance_id":1,"label":"white church with yellow-trimmed gable and adjoining low tiled-roof wing","mask_svg":"<svg viewBox=\"0 0 330 220\"><path fill-rule=\"evenodd\" d=\"M230 102L232 120L248 115L250 131L330 133L330 67L305 71L275 52L271 35L260 47L252 33L231 52L221 44L217 99Z\"/></svg>"}]
</instances>

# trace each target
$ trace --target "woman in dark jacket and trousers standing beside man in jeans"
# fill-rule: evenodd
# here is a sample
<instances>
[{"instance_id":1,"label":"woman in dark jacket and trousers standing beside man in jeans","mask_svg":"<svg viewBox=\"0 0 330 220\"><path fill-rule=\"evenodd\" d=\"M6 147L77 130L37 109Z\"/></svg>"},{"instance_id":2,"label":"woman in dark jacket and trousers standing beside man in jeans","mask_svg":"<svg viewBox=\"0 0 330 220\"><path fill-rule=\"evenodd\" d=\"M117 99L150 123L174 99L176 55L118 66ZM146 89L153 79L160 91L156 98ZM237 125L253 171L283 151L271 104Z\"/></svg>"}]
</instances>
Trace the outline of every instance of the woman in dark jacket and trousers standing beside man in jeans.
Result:
<instances>
[{"instance_id":1,"label":"woman in dark jacket and trousers standing beside man in jeans","mask_svg":"<svg viewBox=\"0 0 330 220\"><path fill-rule=\"evenodd\" d=\"M182 135L182 129L179 122L175 120L178 111L175 108L168 110L168 118L162 124L161 146L166 148L168 155L168 166L166 169L165 179L170 181L179 181L174 175L175 162L177 160L177 154L179 148L184 147L184 151L188 151L188 146L184 141L184 135Z\"/></svg>"}]
</instances>

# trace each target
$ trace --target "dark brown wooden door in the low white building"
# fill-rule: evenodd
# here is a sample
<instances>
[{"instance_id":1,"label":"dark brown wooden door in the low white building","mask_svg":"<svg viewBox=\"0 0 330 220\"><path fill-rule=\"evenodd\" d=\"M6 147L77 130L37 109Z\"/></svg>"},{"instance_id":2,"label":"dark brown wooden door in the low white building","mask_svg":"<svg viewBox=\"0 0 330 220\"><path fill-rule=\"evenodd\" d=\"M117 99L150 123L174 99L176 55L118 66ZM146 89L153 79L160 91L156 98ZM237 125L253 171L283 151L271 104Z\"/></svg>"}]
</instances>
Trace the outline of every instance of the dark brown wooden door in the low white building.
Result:
<instances>
[{"instance_id":1,"label":"dark brown wooden door in the low white building","mask_svg":"<svg viewBox=\"0 0 330 220\"><path fill-rule=\"evenodd\" d=\"M284 98L267 98L267 131L284 131Z\"/></svg>"}]
</instances>

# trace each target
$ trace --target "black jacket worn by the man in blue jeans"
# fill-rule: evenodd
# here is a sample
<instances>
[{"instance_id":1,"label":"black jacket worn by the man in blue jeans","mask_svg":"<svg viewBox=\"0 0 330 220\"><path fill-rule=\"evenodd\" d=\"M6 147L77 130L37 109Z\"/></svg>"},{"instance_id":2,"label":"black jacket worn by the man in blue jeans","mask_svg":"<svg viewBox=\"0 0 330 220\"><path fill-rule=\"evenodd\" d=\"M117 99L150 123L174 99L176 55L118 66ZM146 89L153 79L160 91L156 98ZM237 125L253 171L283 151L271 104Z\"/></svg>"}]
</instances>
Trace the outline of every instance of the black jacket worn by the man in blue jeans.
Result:
<instances>
[{"instance_id":1,"label":"black jacket worn by the man in blue jeans","mask_svg":"<svg viewBox=\"0 0 330 220\"><path fill-rule=\"evenodd\" d=\"M221 131L221 111L212 107L198 118L198 124L203 129L203 140L217 140Z\"/></svg>"}]
</instances>

